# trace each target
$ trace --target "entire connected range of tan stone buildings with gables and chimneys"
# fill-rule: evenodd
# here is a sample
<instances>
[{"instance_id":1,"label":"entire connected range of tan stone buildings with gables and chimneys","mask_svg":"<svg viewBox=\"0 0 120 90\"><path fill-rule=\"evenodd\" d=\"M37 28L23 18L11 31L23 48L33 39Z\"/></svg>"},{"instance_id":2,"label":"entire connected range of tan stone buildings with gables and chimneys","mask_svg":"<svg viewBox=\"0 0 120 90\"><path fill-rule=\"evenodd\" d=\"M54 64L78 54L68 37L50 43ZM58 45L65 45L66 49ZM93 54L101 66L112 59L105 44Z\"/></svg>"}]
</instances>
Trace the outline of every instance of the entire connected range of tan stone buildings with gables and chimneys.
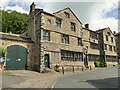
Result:
<instances>
[{"instance_id":1,"label":"entire connected range of tan stone buildings with gables and chimneys","mask_svg":"<svg viewBox=\"0 0 120 90\"><path fill-rule=\"evenodd\" d=\"M117 61L111 30L90 30L89 24L83 27L70 8L51 14L32 3L29 16L28 29L21 35L15 35L12 41L9 37L2 38L5 44L25 45L30 54L28 69L42 72L45 68L53 69L56 64L94 67L94 61Z\"/></svg>"}]
</instances>

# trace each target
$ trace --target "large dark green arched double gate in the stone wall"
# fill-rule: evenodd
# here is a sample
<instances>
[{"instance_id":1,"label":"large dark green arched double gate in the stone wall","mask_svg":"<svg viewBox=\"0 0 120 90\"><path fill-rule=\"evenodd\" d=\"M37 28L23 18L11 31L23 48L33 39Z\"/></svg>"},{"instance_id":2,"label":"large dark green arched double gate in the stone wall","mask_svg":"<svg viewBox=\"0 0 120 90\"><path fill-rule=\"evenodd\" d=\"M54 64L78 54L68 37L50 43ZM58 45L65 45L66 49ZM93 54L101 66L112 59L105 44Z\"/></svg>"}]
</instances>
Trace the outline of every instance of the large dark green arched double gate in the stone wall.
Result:
<instances>
[{"instance_id":1,"label":"large dark green arched double gate in the stone wall","mask_svg":"<svg viewBox=\"0 0 120 90\"><path fill-rule=\"evenodd\" d=\"M7 48L6 70L25 70L27 66L27 49L13 45Z\"/></svg>"}]
</instances>

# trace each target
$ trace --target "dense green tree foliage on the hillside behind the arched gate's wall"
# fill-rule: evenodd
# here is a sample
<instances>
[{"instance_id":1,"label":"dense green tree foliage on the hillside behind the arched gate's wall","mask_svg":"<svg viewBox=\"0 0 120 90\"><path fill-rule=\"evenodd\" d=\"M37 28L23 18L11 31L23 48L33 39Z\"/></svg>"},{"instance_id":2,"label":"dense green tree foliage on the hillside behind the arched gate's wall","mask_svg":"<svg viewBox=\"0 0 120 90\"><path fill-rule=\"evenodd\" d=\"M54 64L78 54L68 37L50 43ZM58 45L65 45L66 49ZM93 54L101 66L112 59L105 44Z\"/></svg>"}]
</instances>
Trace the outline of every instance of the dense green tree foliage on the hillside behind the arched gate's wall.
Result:
<instances>
[{"instance_id":1,"label":"dense green tree foliage on the hillside behind the arched gate's wall","mask_svg":"<svg viewBox=\"0 0 120 90\"><path fill-rule=\"evenodd\" d=\"M20 34L28 27L27 14L21 14L16 11L2 10L2 32Z\"/></svg>"}]
</instances>

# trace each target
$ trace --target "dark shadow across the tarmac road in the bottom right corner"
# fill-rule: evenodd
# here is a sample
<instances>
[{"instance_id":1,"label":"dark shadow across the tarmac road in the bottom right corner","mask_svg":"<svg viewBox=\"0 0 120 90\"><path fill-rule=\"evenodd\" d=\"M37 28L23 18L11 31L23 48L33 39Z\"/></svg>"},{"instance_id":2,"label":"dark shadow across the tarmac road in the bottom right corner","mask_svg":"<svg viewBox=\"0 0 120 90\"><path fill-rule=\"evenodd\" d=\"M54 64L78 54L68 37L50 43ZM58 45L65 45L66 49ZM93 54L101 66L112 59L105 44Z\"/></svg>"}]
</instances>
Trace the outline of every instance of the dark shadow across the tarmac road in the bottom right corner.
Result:
<instances>
[{"instance_id":1,"label":"dark shadow across the tarmac road in the bottom right corner","mask_svg":"<svg viewBox=\"0 0 120 90\"><path fill-rule=\"evenodd\" d=\"M114 90L118 90L120 77L115 78L105 78L105 79L98 79L98 80L87 80L89 84L95 86L96 88L102 89L108 89L113 88Z\"/></svg>"}]
</instances>

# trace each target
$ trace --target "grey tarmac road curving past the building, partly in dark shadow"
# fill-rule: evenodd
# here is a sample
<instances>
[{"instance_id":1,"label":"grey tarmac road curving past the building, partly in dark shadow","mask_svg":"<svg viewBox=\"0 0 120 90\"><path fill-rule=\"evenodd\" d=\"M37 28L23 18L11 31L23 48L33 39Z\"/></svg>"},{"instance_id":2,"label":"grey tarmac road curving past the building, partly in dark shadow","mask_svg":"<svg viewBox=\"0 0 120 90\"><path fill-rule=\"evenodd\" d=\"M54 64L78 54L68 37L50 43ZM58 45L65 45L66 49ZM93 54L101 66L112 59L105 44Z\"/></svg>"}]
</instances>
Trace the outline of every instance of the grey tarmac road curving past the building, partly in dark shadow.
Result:
<instances>
[{"instance_id":1,"label":"grey tarmac road curving past the building, partly in dark shadow","mask_svg":"<svg viewBox=\"0 0 120 90\"><path fill-rule=\"evenodd\" d=\"M118 88L118 67L61 77L49 88Z\"/></svg>"}]
</instances>

